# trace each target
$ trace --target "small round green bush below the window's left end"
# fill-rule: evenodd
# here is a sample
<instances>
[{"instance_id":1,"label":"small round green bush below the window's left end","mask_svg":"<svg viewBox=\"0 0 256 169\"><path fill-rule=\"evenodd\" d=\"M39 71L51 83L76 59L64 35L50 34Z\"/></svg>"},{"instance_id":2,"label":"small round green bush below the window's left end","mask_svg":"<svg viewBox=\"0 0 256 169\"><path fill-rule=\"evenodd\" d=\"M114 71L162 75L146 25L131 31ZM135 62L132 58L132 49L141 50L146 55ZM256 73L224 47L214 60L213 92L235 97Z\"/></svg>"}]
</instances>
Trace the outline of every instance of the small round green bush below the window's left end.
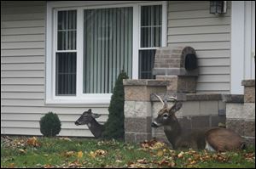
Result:
<instances>
[{"instance_id":1,"label":"small round green bush below the window's left end","mask_svg":"<svg viewBox=\"0 0 256 169\"><path fill-rule=\"evenodd\" d=\"M53 112L48 112L39 122L40 132L46 137L54 137L61 132L61 121Z\"/></svg>"}]
</instances>

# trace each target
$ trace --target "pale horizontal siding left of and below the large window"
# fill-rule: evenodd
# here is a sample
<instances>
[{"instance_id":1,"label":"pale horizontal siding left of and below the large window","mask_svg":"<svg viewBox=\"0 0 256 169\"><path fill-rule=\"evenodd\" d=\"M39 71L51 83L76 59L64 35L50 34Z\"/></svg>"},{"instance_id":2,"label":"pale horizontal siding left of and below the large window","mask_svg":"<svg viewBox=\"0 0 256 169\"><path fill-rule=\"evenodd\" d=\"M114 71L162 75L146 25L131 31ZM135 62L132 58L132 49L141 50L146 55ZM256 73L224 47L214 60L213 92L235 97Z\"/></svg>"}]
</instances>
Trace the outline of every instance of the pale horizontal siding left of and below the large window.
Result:
<instances>
[{"instance_id":1,"label":"pale horizontal siding left of and below the large window","mask_svg":"<svg viewBox=\"0 0 256 169\"><path fill-rule=\"evenodd\" d=\"M108 119L108 104L45 105L46 2L1 2L1 134L41 135L39 120L47 112L61 119L61 136L92 137L79 116L91 108Z\"/></svg>"}]
</instances>

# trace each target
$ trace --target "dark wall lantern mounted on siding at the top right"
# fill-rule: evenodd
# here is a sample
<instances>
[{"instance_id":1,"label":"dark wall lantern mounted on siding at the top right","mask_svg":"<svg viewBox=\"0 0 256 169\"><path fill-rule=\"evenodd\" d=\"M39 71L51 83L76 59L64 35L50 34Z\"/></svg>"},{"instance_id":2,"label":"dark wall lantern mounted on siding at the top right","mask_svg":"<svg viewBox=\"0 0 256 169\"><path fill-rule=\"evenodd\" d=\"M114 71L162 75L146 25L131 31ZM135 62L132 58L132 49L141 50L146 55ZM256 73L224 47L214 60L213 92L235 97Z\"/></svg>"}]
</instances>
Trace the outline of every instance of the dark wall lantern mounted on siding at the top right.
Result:
<instances>
[{"instance_id":1,"label":"dark wall lantern mounted on siding at the top right","mask_svg":"<svg viewBox=\"0 0 256 169\"><path fill-rule=\"evenodd\" d=\"M210 1L210 14L224 14L226 11L226 1Z\"/></svg>"}]
</instances>

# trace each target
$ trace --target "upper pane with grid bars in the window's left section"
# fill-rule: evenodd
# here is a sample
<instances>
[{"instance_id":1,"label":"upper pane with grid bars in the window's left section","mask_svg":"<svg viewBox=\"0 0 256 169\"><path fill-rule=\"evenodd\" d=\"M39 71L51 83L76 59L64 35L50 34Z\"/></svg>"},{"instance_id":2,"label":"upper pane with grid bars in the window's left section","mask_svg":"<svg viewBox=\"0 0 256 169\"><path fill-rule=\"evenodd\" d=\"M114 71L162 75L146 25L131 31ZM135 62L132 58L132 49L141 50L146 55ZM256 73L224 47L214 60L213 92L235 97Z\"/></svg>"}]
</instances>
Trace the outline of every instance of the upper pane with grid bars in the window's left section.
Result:
<instances>
[{"instance_id":1,"label":"upper pane with grid bars in the window's left section","mask_svg":"<svg viewBox=\"0 0 256 169\"><path fill-rule=\"evenodd\" d=\"M76 49L77 11L58 12L58 50Z\"/></svg>"}]
</instances>

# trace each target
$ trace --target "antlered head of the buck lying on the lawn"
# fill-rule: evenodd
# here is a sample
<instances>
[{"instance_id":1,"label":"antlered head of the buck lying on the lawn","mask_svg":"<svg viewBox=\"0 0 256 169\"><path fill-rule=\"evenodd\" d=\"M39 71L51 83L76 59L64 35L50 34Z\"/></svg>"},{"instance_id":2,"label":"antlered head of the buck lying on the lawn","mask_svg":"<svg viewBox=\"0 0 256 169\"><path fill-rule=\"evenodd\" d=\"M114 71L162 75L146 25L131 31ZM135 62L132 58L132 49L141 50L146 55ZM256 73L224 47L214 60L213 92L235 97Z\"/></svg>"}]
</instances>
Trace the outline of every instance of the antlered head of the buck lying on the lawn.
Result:
<instances>
[{"instance_id":1,"label":"antlered head of the buck lying on the lawn","mask_svg":"<svg viewBox=\"0 0 256 169\"><path fill-rule=\"evenodd\" d=\"M177 102L177 99L174 97L169 97L174 101L174 104L172 107L168 108L167 100L163 101L160 96L154 94L160 102L163 104L162 109L159 110L158 116L154 119L154 122L152 122L151 126L152 127L161 127L161 126L170 126L170 124L174 124L177 122L177 118L175 116L175 112L177 110L180 110L182 107L181 102Z\"/></svg>"}]
</instances>

